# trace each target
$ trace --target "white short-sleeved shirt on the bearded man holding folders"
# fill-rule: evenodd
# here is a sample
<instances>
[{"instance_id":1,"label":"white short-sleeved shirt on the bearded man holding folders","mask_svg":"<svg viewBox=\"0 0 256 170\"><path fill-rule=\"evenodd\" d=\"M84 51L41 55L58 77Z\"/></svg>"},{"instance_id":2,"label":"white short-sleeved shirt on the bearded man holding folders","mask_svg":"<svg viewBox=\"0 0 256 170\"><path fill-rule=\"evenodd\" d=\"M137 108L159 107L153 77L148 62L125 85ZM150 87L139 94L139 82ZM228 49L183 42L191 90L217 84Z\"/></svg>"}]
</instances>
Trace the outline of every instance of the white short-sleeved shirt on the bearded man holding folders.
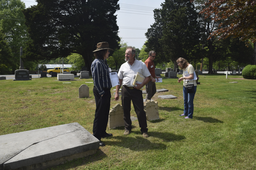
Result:
<instances>
[{"instance_id":1,"label":"white short-sleeved shirt on the bearded man holding folders","mask_svg":"<svg viewBox=\"0 0 256 170\"><path fill-rule=\"evenodd\" d=\"M145 63L138 61L135 58L134 63L131 65L127 61L126 63L122 64L119 71L118 71L118 78L123 79L123 85L128 87L134 87L132 84L132 79L137 73L142 74L144 77L149 77L151 74L148 71L148 68Z\"/></svg>"}]
</instances>

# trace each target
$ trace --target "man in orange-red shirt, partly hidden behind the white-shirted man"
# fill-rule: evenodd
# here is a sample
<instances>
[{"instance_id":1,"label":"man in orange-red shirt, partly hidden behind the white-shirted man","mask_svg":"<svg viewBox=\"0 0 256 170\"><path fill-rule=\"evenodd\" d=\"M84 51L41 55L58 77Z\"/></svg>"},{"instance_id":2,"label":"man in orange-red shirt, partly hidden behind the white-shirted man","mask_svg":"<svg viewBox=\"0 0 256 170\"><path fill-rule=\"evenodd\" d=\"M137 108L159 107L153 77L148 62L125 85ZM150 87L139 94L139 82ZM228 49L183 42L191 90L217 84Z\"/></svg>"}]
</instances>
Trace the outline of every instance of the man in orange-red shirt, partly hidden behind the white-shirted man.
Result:
<instances>
[{"instance_id":1,"label":"man in orange-red shirt, partly hidden behind the white-shirted man","mask_svg":"<svg viewBox=\"0 0 256 170\"><path fill-rule=\"evenodd\" d=\"M151 74L150 78L151 81L148 82L148 84L146 84L146 101L147 100L151 100L151 98L155 95L156 93L156 79L155 78L159 78L156 76L155 74L155 64L153 62L153 60L155 60L156 58L156 52L155 51L150 51L148 53L148 59L145 61L146 66L148 67L148 70Z\"/></svg>"}]
</instances>

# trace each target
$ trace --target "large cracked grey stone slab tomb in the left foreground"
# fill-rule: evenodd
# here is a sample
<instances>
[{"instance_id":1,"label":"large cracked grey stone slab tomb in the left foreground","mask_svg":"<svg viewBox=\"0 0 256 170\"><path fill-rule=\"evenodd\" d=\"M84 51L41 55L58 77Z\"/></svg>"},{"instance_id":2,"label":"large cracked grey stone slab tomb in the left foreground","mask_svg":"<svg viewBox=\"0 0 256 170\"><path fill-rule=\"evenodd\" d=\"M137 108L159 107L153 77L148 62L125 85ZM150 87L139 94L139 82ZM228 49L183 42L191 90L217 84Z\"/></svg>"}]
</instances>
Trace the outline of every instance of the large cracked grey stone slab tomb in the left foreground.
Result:
<instances>
[{"instance_id":1,"label":"large cracked grey stone slab tomb in the left foreground","mask_svg":"<svg viewBox=\"0 0 256 170\"><path fill-rule=\"evenodd\" d=\"M45 169L94 154L99 146L100 141L76 122L1 135L0 169Z\"/></svg>"}]
</instances>

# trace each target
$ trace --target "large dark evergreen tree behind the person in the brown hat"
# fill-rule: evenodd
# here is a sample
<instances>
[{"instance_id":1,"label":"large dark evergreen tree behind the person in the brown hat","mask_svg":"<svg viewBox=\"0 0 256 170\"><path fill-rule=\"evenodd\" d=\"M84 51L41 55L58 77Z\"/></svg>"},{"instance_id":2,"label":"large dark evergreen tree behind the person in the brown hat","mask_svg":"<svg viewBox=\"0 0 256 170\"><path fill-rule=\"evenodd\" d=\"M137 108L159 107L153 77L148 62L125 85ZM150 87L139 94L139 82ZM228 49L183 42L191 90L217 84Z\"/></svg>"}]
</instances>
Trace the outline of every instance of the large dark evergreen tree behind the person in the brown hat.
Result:
<instances>
[{"instance_id":1,"label":"large dark evergreen tree behind the person in the brown hat","mask_svg":"<svg viewBox=\"0 0 256 170\"><path fill-rule=\"evenodd\" d=\"M47 60L82 55L91 67L92 51L98 42L119 48L115 12L118 0L38 0L36 6L23 11L31 41L24 54L27 60Z\"/></svg>"}]
</instances>

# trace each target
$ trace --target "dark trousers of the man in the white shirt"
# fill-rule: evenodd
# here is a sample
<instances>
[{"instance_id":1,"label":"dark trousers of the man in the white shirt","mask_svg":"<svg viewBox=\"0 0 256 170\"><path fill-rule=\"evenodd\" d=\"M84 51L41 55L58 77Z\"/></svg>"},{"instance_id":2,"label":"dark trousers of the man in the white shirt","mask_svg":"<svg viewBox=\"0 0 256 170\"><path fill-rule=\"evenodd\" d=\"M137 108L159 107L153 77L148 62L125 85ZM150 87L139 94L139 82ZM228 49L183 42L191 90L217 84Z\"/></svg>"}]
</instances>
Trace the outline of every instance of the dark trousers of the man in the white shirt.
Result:
<instances>
[{"instance_id":1,"label":"dark trousers of the man in the white shirt","mask_svg":"<svg viewBox=\"0 0 256 170\"><path fill-rule=\"evenodd\" d=\"M141 133L148 132L147 117L144 111L142 91L137 89L129 89L126 86L122 87L122 106L124 109L124 129L132 130L132 121L131 121L131 113L130 113L131 100L139 121Z\"/></svg>"}]
</instances>

